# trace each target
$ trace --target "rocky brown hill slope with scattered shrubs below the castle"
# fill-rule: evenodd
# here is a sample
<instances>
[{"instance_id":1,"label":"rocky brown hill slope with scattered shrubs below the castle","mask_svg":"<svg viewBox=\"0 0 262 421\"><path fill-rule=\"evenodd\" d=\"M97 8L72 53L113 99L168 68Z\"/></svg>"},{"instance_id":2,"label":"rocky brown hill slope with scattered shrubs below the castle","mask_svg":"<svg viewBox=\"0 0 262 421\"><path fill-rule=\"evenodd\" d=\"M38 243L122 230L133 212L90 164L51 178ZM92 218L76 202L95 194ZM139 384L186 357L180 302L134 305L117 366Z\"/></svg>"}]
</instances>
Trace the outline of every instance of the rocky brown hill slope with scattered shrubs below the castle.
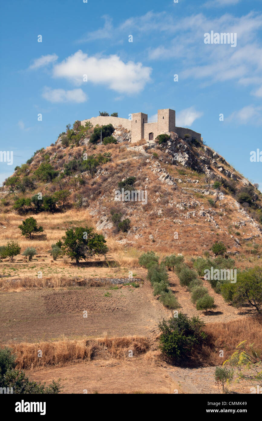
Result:
<instances>
[{"instance_id":1,"label":"rocky brown hill slope with scattered shrubs below the castle","mask_svg":"<svg viewBox=\"0 0 262 421\"><path fill-rule=\"evenodd\" d=\"M242 260L260 258L253 246L261 242L262 195L217 152L173 132L130 144L122 126L100 145L92 141L95 128L76 123L5 181L2 211L35 214L30 200L40 192L54 201L41 210L85 210L98 231L125 246L195 256L222 240ZM122 189L142 200L119 200ZM63 200L58 192L65 191Z\"/></svg>"}]
</instances>

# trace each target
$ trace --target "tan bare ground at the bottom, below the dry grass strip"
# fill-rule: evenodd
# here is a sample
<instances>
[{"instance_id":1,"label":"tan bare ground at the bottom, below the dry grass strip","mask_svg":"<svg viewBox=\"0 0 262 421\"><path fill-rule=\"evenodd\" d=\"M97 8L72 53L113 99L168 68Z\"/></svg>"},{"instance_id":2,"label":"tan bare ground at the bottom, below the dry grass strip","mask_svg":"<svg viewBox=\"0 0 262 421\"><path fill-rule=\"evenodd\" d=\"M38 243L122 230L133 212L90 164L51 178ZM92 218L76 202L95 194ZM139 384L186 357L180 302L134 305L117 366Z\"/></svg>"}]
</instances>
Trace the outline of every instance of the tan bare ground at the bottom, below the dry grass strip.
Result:
<instances>
[{"instance_id":1,"label":"tan bare ground at the bottom, below the dry grass strip","mask_svg":"<svg viewBox=\"0 0 262 421\"><path fill-rule=\"evenodd\" d=\"M27 371L34 381L61 378L61 393L174 393L167 370L143 358L94 360L88 363Z\"/></svg>"}]
</instances>

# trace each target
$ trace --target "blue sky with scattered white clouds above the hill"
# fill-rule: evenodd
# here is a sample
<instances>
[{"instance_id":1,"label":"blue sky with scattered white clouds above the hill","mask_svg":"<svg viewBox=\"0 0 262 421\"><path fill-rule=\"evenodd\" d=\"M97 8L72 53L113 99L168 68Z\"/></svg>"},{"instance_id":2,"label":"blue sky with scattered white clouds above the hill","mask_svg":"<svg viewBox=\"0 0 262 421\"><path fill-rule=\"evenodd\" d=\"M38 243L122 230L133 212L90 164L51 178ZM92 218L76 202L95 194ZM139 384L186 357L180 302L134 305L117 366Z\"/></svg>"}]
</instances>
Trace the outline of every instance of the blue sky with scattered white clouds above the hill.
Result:
<instances>
[{"instance_id":1,"label":"blue sky with scattered white clouds above the hill","mask_svg":"<svg viewBox=\"0 0 262 421\"><path fill-rule=\"evenodd\" d=\"M2 2L0 150L14 157L13 165L0 162L0 182L54 143L67 123L104 110L154 119L157 109L172 108L178 126L201 132L262 189L262 162L250 162L251 151L262 151L261 6L262 0ZM236 47L205 44L211 31L236 33Z\"/></svg>"}]
</instances>

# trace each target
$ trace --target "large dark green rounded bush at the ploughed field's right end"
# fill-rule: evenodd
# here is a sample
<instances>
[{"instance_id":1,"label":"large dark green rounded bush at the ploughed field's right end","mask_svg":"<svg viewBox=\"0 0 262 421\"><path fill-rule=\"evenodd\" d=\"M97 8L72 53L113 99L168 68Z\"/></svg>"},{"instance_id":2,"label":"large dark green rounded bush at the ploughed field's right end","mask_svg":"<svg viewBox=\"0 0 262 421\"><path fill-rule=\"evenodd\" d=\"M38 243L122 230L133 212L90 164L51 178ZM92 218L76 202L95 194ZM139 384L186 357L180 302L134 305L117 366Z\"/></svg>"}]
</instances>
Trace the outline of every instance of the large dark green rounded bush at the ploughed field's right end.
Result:
<instances>
[{"instance_id":1,"label":"large dark green rounded bush at the ploughed field's right end","mask_svg":"<svg viewBox=\"0 0 262 421\"><path fill-rule=\"evenodd\" d=\"M162 320L159 323L161 351L176 362L188 358L206 338L201 330L203 326L204 323L198 317L190 319L183 313L178 313L177 317L169 320Z\"/></svg>"}]
</instances>

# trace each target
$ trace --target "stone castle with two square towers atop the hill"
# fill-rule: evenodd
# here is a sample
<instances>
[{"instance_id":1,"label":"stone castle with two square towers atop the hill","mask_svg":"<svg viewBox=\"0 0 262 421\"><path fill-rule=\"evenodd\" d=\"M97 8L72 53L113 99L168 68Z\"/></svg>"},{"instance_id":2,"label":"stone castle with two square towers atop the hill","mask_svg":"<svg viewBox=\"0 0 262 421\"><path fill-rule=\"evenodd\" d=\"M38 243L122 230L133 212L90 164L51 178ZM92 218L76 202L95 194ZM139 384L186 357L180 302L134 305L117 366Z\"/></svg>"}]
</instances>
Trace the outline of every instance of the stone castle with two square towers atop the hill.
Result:
<instances>
[{"instance_id":1,"label":"stone castle with two square towers atop the hill","mask_svg":"<svg viewBox=\"0 0 262 421\"><path fill-rule=\"evenodd\" d=\"M87 121L90 121L93 126L95 125L107 125L112 124L114 128L122 125L125 129L131 131L131 143L138 142L141 139L146 141L155 140L159 134L174 132L179 137L184 139L185 135L188 134L189 140L197 139L201 141L201 134L191 129L177 127L175 125L175 110L165 108L157 111L157 121L148 120L148 115L143 112L136 112L131 114L131 120L128 118L121 117L92 117L87 120L82 120L81 125L85 125Z\"/></svg>"}]
</instances>

